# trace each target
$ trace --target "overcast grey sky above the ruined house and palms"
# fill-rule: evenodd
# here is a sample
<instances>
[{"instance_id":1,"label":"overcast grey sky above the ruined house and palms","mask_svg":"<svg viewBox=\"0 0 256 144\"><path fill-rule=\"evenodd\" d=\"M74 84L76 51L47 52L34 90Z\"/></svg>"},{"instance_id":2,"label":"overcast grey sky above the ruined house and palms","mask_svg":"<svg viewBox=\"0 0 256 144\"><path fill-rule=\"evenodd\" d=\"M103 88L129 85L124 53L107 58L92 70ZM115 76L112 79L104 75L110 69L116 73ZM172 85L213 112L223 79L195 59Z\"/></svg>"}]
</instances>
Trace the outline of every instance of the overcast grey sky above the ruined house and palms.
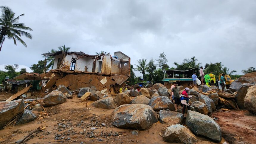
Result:
<instances>
[{"instance_id":1,"label":"overcast grey sky above the ruined house and palms","mask_svg":"<svg viewBox=\"0 0 256 144\"><path fill-rule=\"evenodd\" d=\"M138 59L158 58L164 52L168 65L195 56L202 66L222 62L236 74L256 67L256 1L84 1L0 0L20 23L33 29L33 39L14 45L6 39L0 52L0 70L17 63L29 67L58 46L95 54L122 51ZM138 72L135 73L140 75Z\"/></svg>"}]
</instances>

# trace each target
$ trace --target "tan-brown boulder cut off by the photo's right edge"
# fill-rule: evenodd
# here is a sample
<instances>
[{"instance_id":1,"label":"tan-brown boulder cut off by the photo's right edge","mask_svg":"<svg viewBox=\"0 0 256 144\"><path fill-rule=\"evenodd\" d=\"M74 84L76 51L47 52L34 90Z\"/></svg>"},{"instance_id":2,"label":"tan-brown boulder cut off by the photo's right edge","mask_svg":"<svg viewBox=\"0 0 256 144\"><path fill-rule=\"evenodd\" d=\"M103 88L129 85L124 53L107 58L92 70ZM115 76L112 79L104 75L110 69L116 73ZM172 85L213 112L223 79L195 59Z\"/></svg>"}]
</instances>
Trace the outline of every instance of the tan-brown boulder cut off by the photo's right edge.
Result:
<instances>
[{"instance_id":1,"label":"tan-brown boulder cut off by the photo's right edge","mask_svg":"<svg viewBox=\"0 0 256 144\"><path fill-rule=\"evenodd\" d=\"M248 88L244 98L244 106L249 112L256 114L256 85Z\"/></svg>"}]
</instances>

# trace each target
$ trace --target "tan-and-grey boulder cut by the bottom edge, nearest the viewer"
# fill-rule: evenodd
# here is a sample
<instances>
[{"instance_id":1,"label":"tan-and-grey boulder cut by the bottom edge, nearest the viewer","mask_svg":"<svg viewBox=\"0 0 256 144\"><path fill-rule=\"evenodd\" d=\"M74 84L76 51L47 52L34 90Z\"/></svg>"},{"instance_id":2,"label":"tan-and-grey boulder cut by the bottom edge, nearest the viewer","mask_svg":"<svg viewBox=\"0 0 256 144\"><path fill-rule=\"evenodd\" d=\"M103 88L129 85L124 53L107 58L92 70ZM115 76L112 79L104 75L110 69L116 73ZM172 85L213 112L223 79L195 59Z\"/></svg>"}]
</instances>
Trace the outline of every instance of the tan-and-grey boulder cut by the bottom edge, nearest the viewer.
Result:
<instances>
[{"instance_id":1,"label":"tan-and-grey boulder cut by the bottom edge, nearest the viewer","mask_svg":"<svg viewBox=\"0 0 256 144\"><path fill-rule=\"evenodd\" d=\"M164 134L163 140L169 143L196 143L196 136L185 126L180 124L169 126Z\"/></svg>"}]
</instances>

